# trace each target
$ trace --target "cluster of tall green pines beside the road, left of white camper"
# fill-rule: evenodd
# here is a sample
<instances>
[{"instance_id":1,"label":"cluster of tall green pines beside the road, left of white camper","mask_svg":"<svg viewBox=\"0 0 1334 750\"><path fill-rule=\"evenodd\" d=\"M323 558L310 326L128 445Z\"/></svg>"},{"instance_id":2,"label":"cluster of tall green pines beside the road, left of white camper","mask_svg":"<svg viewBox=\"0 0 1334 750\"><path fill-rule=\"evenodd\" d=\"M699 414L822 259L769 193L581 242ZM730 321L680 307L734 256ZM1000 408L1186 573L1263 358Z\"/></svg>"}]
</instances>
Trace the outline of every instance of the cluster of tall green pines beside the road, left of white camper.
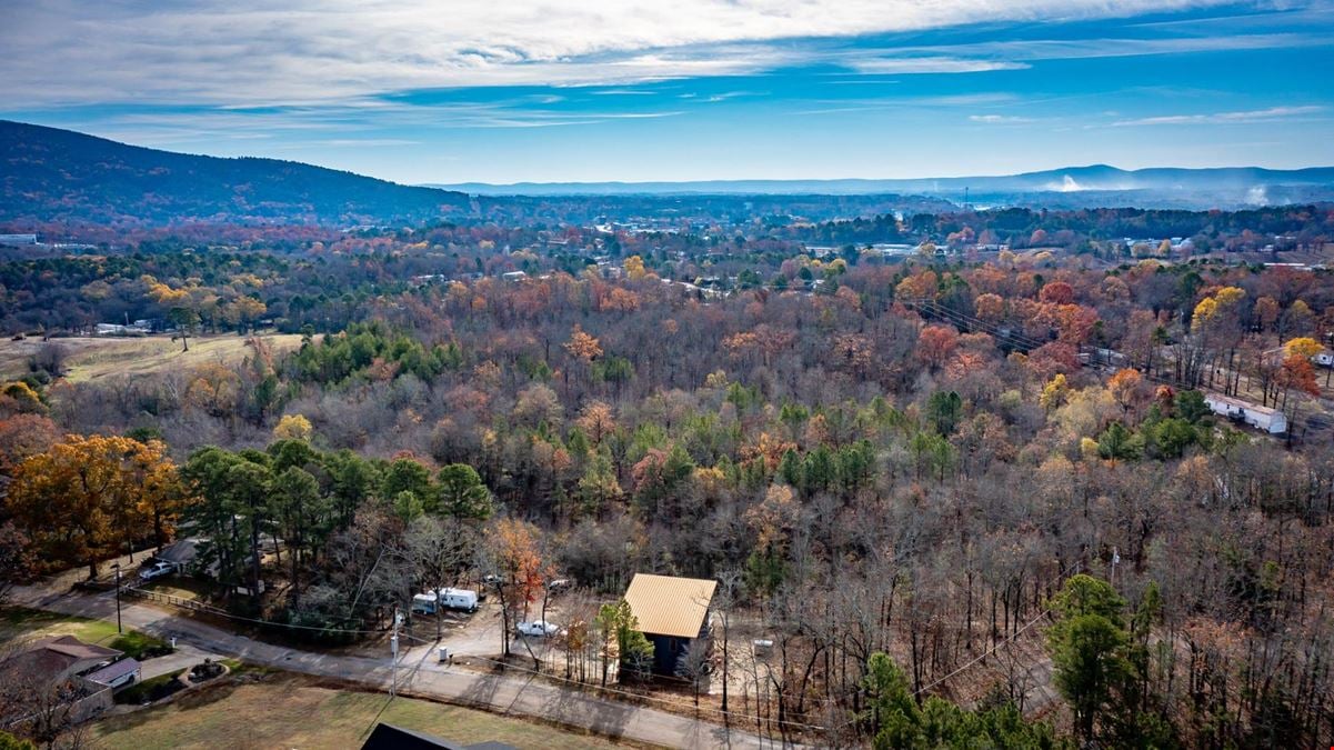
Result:
<instances>
[{"instance_id":1,"label":"cluster of tall green pines beside the road, left of white camper","mask_svg":"<svg viewBox=\"0 0 1334 750\"><path fill-rule=\"evenodd\" d=\"M394 603L406 606L422 589L456 583L474 559L455 559L450 581L424 581L404 566L422 563L414 552L422 544L467 548L467 538L434 535L476 535L476 524L466 524L495 510L470 466L432 472L412 458L367 460L350 451L317 451L297 438L265 451L201 448L181 476L197 494L184 518L204 539L199 565L208 578L220 591L244 585L249 597L240 602L243 610L308 629L379 627ZM458 526L446 530L443 522ZM364 534L402 544L367 547ZM288 574L285 597L268 613L260 598L265 542ZM386 551L394 554L382 560Z\"/></svg>"}]
</instances>

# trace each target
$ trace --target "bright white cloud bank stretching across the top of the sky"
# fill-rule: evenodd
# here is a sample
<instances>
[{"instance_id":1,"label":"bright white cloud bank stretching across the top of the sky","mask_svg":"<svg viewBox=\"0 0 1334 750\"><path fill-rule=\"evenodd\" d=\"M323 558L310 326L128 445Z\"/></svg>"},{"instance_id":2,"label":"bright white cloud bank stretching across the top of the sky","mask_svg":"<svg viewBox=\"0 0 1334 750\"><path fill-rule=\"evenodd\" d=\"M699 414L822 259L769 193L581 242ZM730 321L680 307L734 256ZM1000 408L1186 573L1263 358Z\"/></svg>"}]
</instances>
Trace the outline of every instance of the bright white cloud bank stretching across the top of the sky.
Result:
<instances>
[{"instance_id":1,"label":"bright white cloud bank stretching across the top of the sky","mask_svg":"<svg viewBox=\"0 0 1334 750\"><path fill-rule=\"evenodd\" d=\"M299 0L276 8L261 0L43 0L5 4L0 96L24 105L229 105L321 103L415 88L615 85L766 71L822 53L819 45L784 40L1222 4L1226 0ZM1015 64L1013 57L983 57L891 56L866 64L895 73Z\"/></svg>"}]
</instances>

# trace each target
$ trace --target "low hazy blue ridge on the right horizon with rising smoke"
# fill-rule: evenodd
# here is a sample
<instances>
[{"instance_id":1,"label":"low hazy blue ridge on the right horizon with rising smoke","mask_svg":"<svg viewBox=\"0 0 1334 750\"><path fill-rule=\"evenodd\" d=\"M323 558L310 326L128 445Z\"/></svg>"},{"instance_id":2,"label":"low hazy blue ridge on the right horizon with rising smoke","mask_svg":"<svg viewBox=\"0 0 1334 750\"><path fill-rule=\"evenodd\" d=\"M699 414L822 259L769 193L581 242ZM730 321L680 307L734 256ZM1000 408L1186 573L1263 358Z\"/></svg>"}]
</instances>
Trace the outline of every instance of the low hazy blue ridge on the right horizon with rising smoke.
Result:
<instances>
[{"instance_id":1,"label":"low hazy blue ridge on the right horizon with rising smoke","mask_svg":"<svg viewBox=\"0 0 1334 750\"><path fill-rule=\"evenodd\" d=\"M703 180L655 183L515 183L439 184L475 195L634 195L634 194L812 194L859 195L903 194L958 199L967 191L978 200L1015 199L1042 194L1142 192L1171 199L1173 194L1199 194L1225 203L1265 203L1271 190L1282 196L1314 192L1334 196L1334 167L1266 169L1262 167L1119 169L1106 164L1045 169L1019 175L918 179L836 179L836 180ZM1285 188L1297 188L1285 190ZM1293 196L1295 199L1295 195ZM1302 196L1299 200L1307 200ZM1327 199L1327 198L1326 198Z\"/></svg>"}]
</instances>

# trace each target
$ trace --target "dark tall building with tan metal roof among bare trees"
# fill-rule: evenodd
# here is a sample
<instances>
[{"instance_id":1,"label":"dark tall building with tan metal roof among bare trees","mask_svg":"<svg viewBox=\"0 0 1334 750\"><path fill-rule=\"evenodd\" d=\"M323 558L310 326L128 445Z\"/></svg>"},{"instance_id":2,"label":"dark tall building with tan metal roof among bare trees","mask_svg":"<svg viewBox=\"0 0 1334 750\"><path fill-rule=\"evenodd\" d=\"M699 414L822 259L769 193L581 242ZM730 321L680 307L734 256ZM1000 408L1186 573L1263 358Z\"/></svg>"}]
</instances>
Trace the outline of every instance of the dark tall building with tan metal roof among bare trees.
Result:
<instances>
[{"instance_id":1,"label":"dark tall building with tan metal roof among bare trees","mask_svg":"<svg viewBox=\"0 0 1334 750\"><path fill-rule=\"evenodd\" d=\"M654 645L654 674L675 675L680 655L710 639L710 603L716 581L636 573L626 590L639 631Z\"/></svg>"}]
</instances>

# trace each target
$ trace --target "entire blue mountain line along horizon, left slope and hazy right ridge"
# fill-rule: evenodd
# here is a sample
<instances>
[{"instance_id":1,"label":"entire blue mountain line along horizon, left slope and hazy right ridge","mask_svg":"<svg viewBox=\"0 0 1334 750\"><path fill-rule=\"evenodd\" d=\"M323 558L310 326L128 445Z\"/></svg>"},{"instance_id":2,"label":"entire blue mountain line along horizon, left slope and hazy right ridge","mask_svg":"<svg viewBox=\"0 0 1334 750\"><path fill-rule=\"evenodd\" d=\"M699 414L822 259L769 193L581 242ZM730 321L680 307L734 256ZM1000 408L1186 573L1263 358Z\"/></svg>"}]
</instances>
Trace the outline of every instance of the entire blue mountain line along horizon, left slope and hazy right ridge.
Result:
<instances>
[{"instance_id":1,"label":"entire blue mountain line along horizon, left slope and hazy right ridge","mask_svg":"<svg viewBox=\"0 0 1334 750\"><path fill-rule=\"evenodd\" d=\"M488 199L475 203L468 194ZM688 195L907 196L910 203L967 200L976 207L1233 210L1334 202L1334 167L1126 171L1094 164L939 179L402 185L297 161L175 153L0 120L0 224L13 231L60 223L113 230L189 223L420 224L474 215L483 207L504 214L524 203L504 196L595 195L668 203Z\"/></svg>"}]
</instances>

